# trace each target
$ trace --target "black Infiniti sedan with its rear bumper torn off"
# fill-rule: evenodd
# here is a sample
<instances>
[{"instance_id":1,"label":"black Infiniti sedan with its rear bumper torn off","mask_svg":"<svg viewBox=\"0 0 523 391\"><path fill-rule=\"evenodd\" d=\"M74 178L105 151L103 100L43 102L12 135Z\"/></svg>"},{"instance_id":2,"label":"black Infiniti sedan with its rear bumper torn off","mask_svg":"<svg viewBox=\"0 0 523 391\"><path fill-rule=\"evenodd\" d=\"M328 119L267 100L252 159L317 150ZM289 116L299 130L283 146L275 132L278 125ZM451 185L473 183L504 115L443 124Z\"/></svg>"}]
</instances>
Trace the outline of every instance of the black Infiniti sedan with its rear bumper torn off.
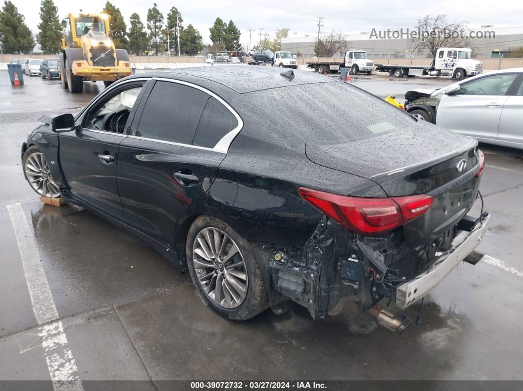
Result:
<instances>
[{"instance_id":1,"label":"black Infiniti sedan with its rear bumper torn off","mask_svg":"<svg viewBox=\"0 0 523 391\"><path fill-rule=\"evenodd\" d=\"M407 307L487 226L467 216L475 140L321 75L140 74L44 122L21 151L32 188L137 234L230 319L289 300L314 318L346 300Z\"/></svg>"}]
</instances>

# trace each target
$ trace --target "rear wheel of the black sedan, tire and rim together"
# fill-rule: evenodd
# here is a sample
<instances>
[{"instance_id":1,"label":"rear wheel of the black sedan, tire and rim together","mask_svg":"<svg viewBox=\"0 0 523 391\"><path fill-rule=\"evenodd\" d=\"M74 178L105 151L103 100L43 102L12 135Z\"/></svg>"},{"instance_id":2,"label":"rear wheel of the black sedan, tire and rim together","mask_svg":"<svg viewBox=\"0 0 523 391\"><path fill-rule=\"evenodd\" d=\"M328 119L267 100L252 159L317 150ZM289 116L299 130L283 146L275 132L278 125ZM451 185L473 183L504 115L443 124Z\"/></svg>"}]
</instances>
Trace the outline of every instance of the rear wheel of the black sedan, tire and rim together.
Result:
<instances>
[{"instance_id":1,"label":"rear wheel of the black sedan, tire and rim together","mask_svg":"<svg viewBox=\"0 0 523 391\"><path fill-rule=\"evenodd\" d=\"M245 321L268 307L265 282L251 244L228 224L200 216L186 242L189 273L212 310Z\"/></svg>"}]
</instances>

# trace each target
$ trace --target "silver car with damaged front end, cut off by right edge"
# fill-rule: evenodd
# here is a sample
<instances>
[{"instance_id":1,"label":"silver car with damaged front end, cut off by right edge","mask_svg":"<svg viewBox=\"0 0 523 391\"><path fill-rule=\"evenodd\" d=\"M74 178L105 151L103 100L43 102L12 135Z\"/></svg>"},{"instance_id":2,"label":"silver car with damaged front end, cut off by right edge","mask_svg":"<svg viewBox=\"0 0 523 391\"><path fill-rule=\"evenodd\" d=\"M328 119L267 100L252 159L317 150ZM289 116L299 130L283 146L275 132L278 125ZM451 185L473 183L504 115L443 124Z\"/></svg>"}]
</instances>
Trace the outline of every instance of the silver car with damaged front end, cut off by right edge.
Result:
<instances>
[{"instance_id":1,"label":"silver car with damaged front end, cut off by right edge","mask_svg":"<svg viewBox=\"0 0 523 391\"><path fill-rule=\"evenodd\" d=\"M523 68L405 94L407 112L482 143L523 149Z\"/></svg>"}]
</instances>

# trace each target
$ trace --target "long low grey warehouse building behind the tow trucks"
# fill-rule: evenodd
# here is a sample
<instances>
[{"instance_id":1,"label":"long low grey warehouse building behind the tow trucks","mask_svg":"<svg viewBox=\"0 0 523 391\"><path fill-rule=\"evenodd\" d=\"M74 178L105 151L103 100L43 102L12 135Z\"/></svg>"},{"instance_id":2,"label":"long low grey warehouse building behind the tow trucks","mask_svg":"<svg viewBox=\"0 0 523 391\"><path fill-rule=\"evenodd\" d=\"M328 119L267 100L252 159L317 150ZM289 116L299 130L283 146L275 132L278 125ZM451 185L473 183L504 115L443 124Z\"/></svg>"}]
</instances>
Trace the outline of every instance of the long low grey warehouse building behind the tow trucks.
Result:
<instances>
[{"instance_id":1,"label":"long low grey warehouse building behind the tow trucks","mask_svg":"<svg viewBox=\"0 0 523 391\"><path fill-rule=\"evenodd\" d=\"M403 31L403 36L405 36ZM483 34L482 34L483 32ZM388 36L401 37L402 31L390 31ZM523 46L523 28L495 28L492 25L481 26L475 30L484 38L468 39L465 46L472 48L476 58L505 57L508 52ZM413 52L412 41L407 38L379 38L376 30L351 33L347 36L347 46L333 57L343 57L346 49L353 48L367 51L369 58L426 58L428 53ZM384 36L385 34L382 34ZM378 38L377 38L378 37ZM313 57L317 35L306 34L304 37L281 39L281 50L290 51L299 57Z\"/></svg>"}]
</instances>

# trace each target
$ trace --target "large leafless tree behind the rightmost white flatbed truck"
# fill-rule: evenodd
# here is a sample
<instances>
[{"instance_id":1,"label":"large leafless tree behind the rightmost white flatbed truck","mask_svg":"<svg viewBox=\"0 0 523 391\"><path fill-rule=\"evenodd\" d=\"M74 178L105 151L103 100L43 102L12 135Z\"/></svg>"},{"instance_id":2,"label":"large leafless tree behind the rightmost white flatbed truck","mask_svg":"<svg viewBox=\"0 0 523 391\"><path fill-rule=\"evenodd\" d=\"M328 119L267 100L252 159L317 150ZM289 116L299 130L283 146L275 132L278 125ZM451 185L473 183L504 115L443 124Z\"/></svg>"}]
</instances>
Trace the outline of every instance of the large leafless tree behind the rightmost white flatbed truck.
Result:
<instances>
[{"instance_id":1,"label":"large leafless tree behind the rightmost white flatbed truck","mask_svg":"<svg viewBox=\"0 0 523 391\"><path fill-rule=\"evenodd\" d=\"M466 40L466 21L449 22L446 15L431 17L425 16L418 19L415 27L420 36L411 40L413 52L428 52L432 57L438 48L452 48L463 46Z\"/></svg>"}]
</instances>

